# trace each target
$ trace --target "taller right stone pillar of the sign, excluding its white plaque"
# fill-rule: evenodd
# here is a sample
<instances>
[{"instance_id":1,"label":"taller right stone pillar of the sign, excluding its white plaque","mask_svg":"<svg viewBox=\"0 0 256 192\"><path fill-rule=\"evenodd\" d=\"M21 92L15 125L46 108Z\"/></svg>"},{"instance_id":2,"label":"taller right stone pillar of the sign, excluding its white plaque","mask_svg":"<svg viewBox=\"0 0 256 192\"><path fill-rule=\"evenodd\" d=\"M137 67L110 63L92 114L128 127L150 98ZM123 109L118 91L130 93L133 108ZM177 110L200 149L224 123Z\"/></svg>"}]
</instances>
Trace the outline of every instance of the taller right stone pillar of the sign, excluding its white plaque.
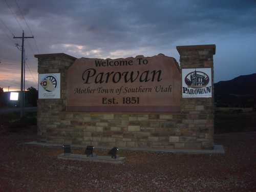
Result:
<instances>
[{"instance_id":1,"label":"taller right stone pillar of the sign, excluding its white plaque","mask_svg":"<svg viewBox=\"0 0 256 192\"><path fill-rule=\"evenodd\" d=\"M215 45L177 46L180 67L211 68L211 98L181 98L182 120L188 127L184 136L185 148L210 149L214 146L214 62ZM196 140L195 140L196 139ZM189 143L191 140L191 143ZM192 141L193 140L193 141Z\"/></svg>"}]
</instances>

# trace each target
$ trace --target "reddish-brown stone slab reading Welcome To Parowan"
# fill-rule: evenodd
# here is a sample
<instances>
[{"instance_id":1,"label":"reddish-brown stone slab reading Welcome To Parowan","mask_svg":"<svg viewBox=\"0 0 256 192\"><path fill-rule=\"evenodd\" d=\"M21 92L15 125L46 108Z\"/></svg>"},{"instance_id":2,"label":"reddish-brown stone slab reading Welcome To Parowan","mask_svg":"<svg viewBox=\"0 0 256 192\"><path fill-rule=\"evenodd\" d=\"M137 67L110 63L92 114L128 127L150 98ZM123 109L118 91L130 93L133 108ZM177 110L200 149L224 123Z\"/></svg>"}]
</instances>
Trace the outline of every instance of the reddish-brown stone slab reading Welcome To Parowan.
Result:
<instances>
[{"instance_id":1,"label":"reddish-brown stone slab reading Welcome To Parowan","mask_svg":"<svg viewBox=\"0 0 256 192\"><path fill-rule=\"evenodd\" d=\"M67 71L67 110L178 112L180 68L172 57L77 59Z\"/></svg>"}]
</instances>

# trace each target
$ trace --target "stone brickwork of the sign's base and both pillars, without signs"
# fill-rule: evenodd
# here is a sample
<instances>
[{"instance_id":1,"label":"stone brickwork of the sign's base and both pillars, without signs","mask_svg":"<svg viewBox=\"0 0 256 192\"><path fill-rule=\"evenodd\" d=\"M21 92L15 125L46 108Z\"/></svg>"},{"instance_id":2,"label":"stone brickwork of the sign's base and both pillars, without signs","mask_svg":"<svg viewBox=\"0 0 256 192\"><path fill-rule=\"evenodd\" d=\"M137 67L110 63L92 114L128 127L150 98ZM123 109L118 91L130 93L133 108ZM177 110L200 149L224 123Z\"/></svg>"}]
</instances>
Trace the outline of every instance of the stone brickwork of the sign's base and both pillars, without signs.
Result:
<instances>
[{"instance_id":1,"label":"stone brickwork of the sign's base and both pillars, without signs","mask_svg":"<svg viewBox=\"0 0 256 192\"><path fill-rule=\"evenodd\" d=\"M180 53L181 69L210 67L213 73L215 45L179 46L177 50ZM64 53L35 57L38 58L39 74L61 74L61 98L37 101L40 142L103 147L213 147L213 97L181 98L179 113L67 112L66 71L76 58Z\"/></svg>"}]
</instances>

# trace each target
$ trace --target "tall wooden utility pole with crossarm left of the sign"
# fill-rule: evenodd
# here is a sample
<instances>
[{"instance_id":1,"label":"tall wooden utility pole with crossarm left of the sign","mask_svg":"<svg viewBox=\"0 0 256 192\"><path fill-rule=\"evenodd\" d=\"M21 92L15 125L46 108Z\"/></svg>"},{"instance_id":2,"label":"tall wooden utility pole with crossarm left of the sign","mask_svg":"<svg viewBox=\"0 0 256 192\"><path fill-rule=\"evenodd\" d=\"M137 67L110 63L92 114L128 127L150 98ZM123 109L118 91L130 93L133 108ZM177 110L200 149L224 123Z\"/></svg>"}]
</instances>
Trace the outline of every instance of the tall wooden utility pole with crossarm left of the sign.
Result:
<instances>
[{"instance_id":1,"label":"tall wooden utility pole with crossarm left of the sign","mask_svg":"<svg viewBox=\"0 0 256 192\"><path fill-rule=\"evenodd\" d=\"M22 37L13 37L14 39L15 38L19 38L19 39L22 39L22 70L21 70L21 78L20 78L20 117L23 117L24 116L24 39L25 38L34 38L34 36L32 37L25 37L24 36L24 31L22 31Z\"/></svg>"}]
</instances>

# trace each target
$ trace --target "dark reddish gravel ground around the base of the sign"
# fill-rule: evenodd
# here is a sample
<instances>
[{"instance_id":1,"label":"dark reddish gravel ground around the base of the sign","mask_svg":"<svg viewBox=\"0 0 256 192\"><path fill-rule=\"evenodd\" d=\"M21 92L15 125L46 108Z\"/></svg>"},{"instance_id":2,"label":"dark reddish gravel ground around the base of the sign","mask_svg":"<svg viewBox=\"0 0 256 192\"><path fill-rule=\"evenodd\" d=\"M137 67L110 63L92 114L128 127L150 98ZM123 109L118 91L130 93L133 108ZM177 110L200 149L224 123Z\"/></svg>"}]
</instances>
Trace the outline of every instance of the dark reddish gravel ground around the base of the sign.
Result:
<instances>
[{"instance_id":1,"label":"dark reddish gravel ground around the base of the sign","mask_svg":"<svg viewBox=\"0 0 256 192\"><path fill-rule=\"evenodd\" d=\"M36 140L31 130L5 132L0 191L256 191L255 138L256 132L216 135L225 155L119 151L126 161L108 164L60 160L62 148L24 144Z\"/></svg>"}]
</instances>

